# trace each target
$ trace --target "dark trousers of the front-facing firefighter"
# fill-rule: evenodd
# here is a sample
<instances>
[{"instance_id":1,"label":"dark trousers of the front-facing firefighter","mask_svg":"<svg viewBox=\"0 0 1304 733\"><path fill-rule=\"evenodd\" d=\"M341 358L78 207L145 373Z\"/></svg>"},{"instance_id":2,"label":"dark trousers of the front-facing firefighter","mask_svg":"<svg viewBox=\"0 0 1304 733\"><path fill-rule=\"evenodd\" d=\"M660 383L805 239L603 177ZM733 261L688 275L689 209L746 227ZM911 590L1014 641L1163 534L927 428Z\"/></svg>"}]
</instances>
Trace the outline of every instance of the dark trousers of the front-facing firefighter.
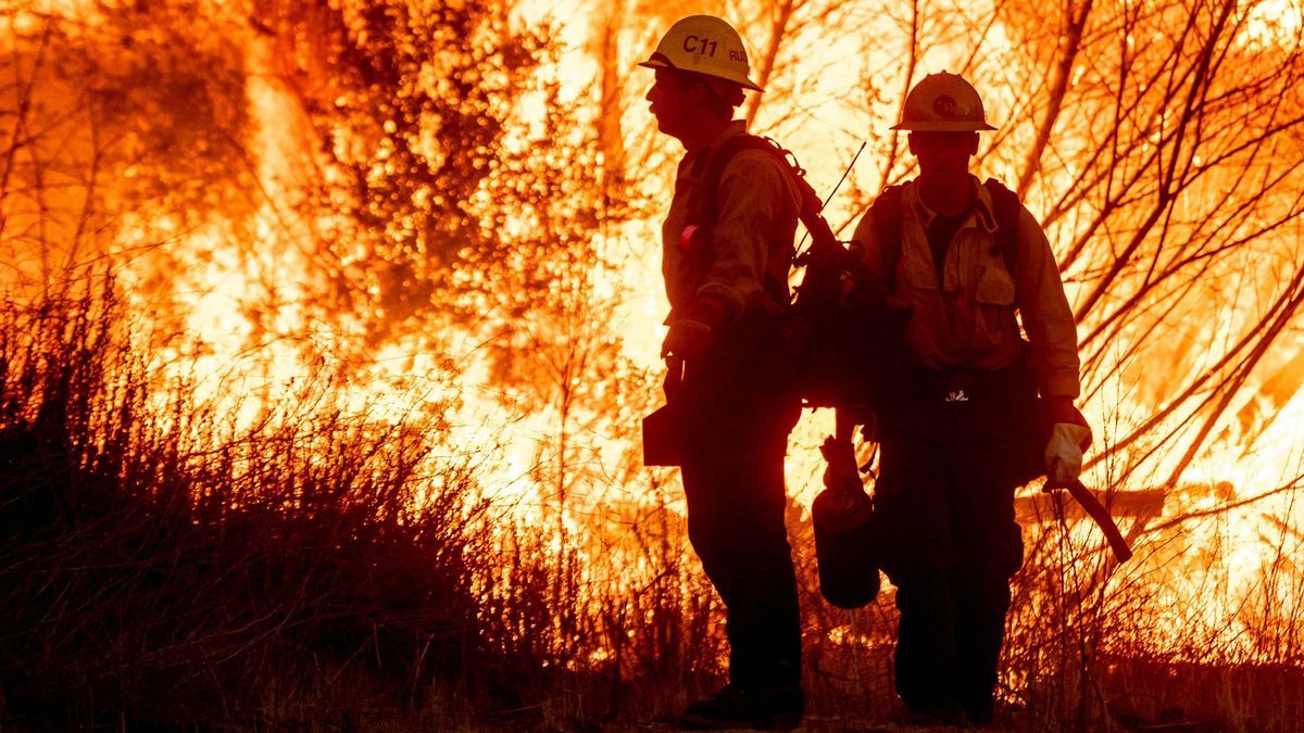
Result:
<instances>
[{"instance_id":1,"label":"dark trousers of the front-facing firefighter","mask_svg":"<svg viewBox=\"0 0 1304 733\"><path fill-rule=\"evenodd\" d=\"M1022 363L915 373L880 412L878 552L897 587L896 687L911 712L991 720L1024 553L1013 496L1035 440L1030 385Z\"/></svg>"}]
</instances>

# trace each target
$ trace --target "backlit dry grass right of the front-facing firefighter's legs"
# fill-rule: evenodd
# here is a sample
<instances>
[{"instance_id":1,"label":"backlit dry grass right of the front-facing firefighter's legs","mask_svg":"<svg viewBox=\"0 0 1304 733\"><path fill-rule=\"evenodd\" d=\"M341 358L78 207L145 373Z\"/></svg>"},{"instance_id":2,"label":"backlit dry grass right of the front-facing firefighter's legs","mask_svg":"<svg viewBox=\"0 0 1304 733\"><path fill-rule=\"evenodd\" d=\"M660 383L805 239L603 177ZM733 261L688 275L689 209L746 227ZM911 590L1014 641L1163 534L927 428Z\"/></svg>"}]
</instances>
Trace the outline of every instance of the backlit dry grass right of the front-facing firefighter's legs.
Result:
<instances>
[{"instance_id":1,"label":"backlit dry grass right of the front-facing firefighter's legs","mask_svg":"<svg viewBox=\"0 0 1304 733\"><path fill-rule=\"evenodd\" d=\"M1282 643L1300 629L1290 591L1301 575L1282 561L1297 550L1290 537L1264 537L1277 561L1236 569L1258 580L1235 612L1222 606L1231 593L1224 558L1179 566L1174 557L1191 548L1176 535L1146 537L1123 566L1082 524L1047 520L1025 539L999 690L1009 726L1299 729L1304 666L1297 647ZM1183 592L1174 593L1179 576Z\"/></svg>"}]
</instances>

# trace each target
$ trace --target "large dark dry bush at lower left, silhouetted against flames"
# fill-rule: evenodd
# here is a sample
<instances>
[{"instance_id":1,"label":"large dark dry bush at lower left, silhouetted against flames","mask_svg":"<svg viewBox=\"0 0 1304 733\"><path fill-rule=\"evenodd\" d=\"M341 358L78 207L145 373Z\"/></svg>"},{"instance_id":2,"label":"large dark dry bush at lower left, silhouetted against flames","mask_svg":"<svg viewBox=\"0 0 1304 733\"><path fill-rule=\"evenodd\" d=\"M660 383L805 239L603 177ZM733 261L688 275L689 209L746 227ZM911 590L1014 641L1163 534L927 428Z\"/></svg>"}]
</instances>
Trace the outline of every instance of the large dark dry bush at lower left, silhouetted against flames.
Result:
<instances>
[{"instance_id":1,"label":"large dark dry bush at lower left, silhouetted against flames","mask_svg":"<svg viewBox=\"0 0 1304 733\"><path fill-rule=\"evenodd\" d=\"M160 403L120 316L104 280L0 317L0 724L451 724L488 653L469 468L325 403Z\"/></svg>"}]
</instances>

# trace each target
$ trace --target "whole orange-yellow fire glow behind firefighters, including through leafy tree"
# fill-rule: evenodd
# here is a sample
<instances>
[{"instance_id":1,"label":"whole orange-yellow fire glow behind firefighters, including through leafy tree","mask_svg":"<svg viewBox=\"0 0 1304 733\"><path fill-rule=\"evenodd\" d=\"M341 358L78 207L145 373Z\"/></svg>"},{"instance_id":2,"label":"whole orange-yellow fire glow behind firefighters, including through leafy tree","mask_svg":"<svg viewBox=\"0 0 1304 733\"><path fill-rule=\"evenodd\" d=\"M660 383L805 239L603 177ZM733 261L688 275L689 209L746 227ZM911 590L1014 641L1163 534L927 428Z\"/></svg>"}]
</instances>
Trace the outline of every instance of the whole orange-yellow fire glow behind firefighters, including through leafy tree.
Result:
<instances>
[{"instance_id":1,"label":"whole orange-yellow fire glow behind firefighters, including through leafy tree","mask_svg":"<svg viewBox=\"0 0 1304 733\"><path fill-rule=\"evenodd\" d=\"M752 4L742 5L741 22L751 31L754 57L760 59L767 25L756 20L762 13ZM828 12L837 10L836 5L829 4ZM852 183L837 193L828 210L835 226L849 224L842 230L849 236L883 184L911 175L911 162L904 151L904 140L887 130L900 91L906 86L900 18L883 14L876 5L844 10L862 23L855 26L859 33L842 33L832 21L811 21L794 30L792 46L777 55L780 63L754 129L792 147L824 194L841 176L850 151L862 141L870 142L850 176ZM50 3L43 12L76 16L78 7ZM981 12L998 10L974 10ZM335 193L361 188L347 177L343 166L322 164L327 153L344 159L372 150L374 159L366 162L369 176L402 177L395 168L396 143L390 137L400 134L399 121L385 120L372 130L381 140L376 142L351 137L343 125L334 129L334 123L314 120L312 108L319 102L314 95L334 98L334 93L306 85L295 77L299 72L282 68L280 55L286 50L275 43L283 39L243 30L241 44L249 52L244 89L249 130L244 153L250 183L239 190L237 198L245 203L253 201L249 210L240 217L222 209L205 210L197 214L197 222L181 222L172 214L154 215L146 209L116 211L112 220L115 240L107 249L121 269L132 310L141 317L137 326L153 337L151 357L159 374L155 387L166 391L173 380L194 380L197 396L227 416L236 432L276 413L278 406L305 394L305 385L317 386L329 395L326 402L366 421L438 424L432 429L446 432L445 445L452 446L450 450L458 458L476 459L485 497L526 524L546 524L540 532L546 537L542 546L549 553L561 557L563 550L575 548L587 580L632 592L630 586L636 580L655 576L657 569L647 553L640 554L631 545L629 532L621 535L621 541L612 540L632 520L610 507L626 511L631 506L664 506L682 513L673 473L640 468L636 446L636 421L659 399L659 346L666 312L659 262L660 214L669 201L681 150L673 141L656 137L643 102L648 77L634 67L655 37L652 29L660 27L664 18L642 5L638 10L631 7L630 17L608 18L604 13L608 10L601 3L539 1L516 8L511 23L532 27L550 17L565 44L556 59L532 69L531 80L537 86L510 100L509 115L502 120L503 134L497 140L499 147L490 158L494 166L505 166L512 155L562 155L558 153L562 143L593 153L591 149L605 142L612 151L619 149L625 158L617 160L614 153L601 150L583 162L597 168L619 168L619 179L615 172L605 172L608 177L595 176L595 180L617 180L613 185L632 202L632 214L591 227L582 243L587 248L583 252L597 253L605 262L567 270L574 282L563 282L553 271L528 271L541 266L540 262L562 260L561 250L566 247L580 252L576 241L544 243L556 248L550 252L557 257L535 257L526 247L531 237L552 226L545 220L549 214L563 220L578 217L569 218L544 206L502 211L501 196L507 187L496 177L503 173L490 170L467 201L458 203L466 203L466 217L484 217L485 226L493 226L489 239L509 252L494 261L501 271L481 265L472 243L466 243L443 253L458 266L438 275L442 284L456 286L450 290L475 293L466 296L471 304L466 309L476 317L450 314L454 307L446 300L452 296L438 290L425 300L413 296L417 305L400 297L422 292L424 283L419 280L428 275L404 273L400 265L416 262L409 269L438 271L433 265L436 253L409 247L408 240L403 247L396 241L422 228L420 217L409 214L407 219L382 222L382 245L373 248L361 236L335 236L338 231L352 232L348 226L355 223L340 210L321 202L310 205L312 185L318 183L335 187L329 188ZM14 16L12 31L7 33L34 33L34 18L31 13ZM982 37L983 52L975 57L971 40L977 31L964 26L966 18L945 16L953 26L947 26L951 30L945 38L952 42L934 39L921 51L914 78L941 69L965 69L986 83L988 113L999 120L1001 132L994 138L999 141L996 147L985 151L981 173L1013 180L1024 170L1025 151L1035 143L1041 115L1048 107L1041 98L1029 103L1028 95L1050 86L1038 74L1054 64L1018 52L1025 37L1037 35L1035 29L1020 23L1031 25L1039 18L1000 16ZM1248 14L1243 40L1228 48L1228 53L1281 53L1286 57L1283 63L1299 65L1300 51L1291 44L1297 46L1300 18L1297 0L1257 4ZM613 46L600 43L604 23L614 27ZM1158 43L1148 46L1144 40L1151 30L1137 27L1112 46L1098 42L1099 47L1091 52L1103 57L1106 51L1129 48L1145 57L1146 48ZM476 46L477 40L489 43L476 38L467 43ZM878 46L866 48L867 43ZM1247 51L1247 47L1256 48ZM1056 47L1047 48L1045 55L1050 57ZM455 67L455 60L446 61L449 68ZM1065 104L1077 107L1052 128L1052 142L1035 175L1029 177L1025 193L1035 215L1054 217L1047 228L1056 252L1065 257L1074 305L1093 299L1118 254L1146 220L1150 202L1163 198L1157 185L1137 173L1163 170L1172 160L1153 157L1155 150L1163 149L1164 155L1189 163L1192 170L1219 157L1228 160L1226 170L1219 168L1172 194L1176 202L1155 215L1159 223L1149 239L1141 237L1142 243L1161 241L1162 228L1167 237L1163 245L1154 244L1142 250L1144 257L1138 254L1120 265L1116 278L1102 286L1093 301L1097 305L1088 308L1080 326L1084 338L1101 329L1101 335L1084 346L1084 352L1093 355L1088 378L1090 399L1084 411L1097 426L1101 455L1084 480L1120 492L1167 492L1159 515L1123 522L1124 528L1132 522L1146 522L1146 531L1136 537L1140 560L1107 583L1114 583L1111 588L1144 587L1153 593L1158 631L1150 640L1163 651L1180 648L1191 625L1202 623L1230 648L1249 657L1254 640L1245 629L1253 620L1247 621L1243 613L1245 600L1256 592L1287 592L1265 576L1273 553L1281 549L1281 544L1273 544L1273 522L1294 527L1300 522L1297 492L1273 490L1297 488L1304 472L1297 438L1304 433L1300 389L1304 377L1290 376L1286 368L1300 350L1299 316L1287 314L1288 327L1282 329L1275 342L1264 344L1266 356L1235 383L1234 378L1240 377L1237 365L1254 350L1247 348L1235 359L1228 353L1237 339L1254 333L1260 317L1267 318L1267 304L1288 290L1292 274L1297 273L1299 252L1294 250L1300 243L1299 202L1288 192L1297 190L1290 184L1300 177L1278 171L1271 160L1295 159L1291 155L1304 153L1304 145L1297 132L1282 133L1261 141L1265 146L1261 157L1236 158L1248 154L1235 136L1253 125L1230 123L1241 112L1228 107L1218 110L1221 116L1208 127L1189 125L1192 140L1197 128L1209 136L1198 154L1192 153L1166 137L1178 124L1170 117L1176 112L1164 108L1141 119L1151 107L1158 110L1170 100L1138 89L1119 93L1132 95L1127 98L1128 113L1136 116L1118 123L1118 130L1123 132L1115 137L1127 140L1101 134L1098 119L1110 119L1115 112L1102 102L1115 91L1108 87L1114 70L1106 68L1115 61L1099 61L1093 69L1097 61L1078 59L1069 69ZM604 99L602 74L608 67L614 68L617 83ZM303 76L309 74L303 72ZM556 98L549 95L548 85L556 85ZM339 99L338 106L344 107L344 97ZM1258 102L1247 91L1244 100L1227 104L1257 108ZM1296 102L1283 103L1281 113L1299 116L1300 110L1292 107ZM567 117L574 125L561 132L549 128L553 121L549 113L556 112L556 104L574 106L574 116ZM446 159L463 153L441 149L443 143L429 129L433 120L421 124L428 129L412 147L424 154L429 171L441 170ZM608 129L604 125L618 130L618 140L599 140L592 133L596 128ZM1106 164L1095 157L1106 149L1118 160ZM892 160L891 166L887 160ZM128 167L123 176L132 179L145 168ZM433 177L429 171L421 171L421 176ZM1127 177L1132 173L1142 183L1129 183ZM1278 175L1281 183L1275 188L1256 188L1266 187L1261 181ZM1088 179L1093 183L1082 183ZM494 188L499 184L503 188ZM1136 190L1111 198L1127 185L1134 185ZM406 189L396 190L395 196L400 196ZM1236 206L1236 197L1247 192L1258 196L1251 197L1258 202L1253 215L1243 215ZM432 185L412 196L420 203L429 203L445 193ZM576 189L557 196L566 194L591 203L602 192ZM0 202L10 215L25 206ZM1108 215L1103 214L1106 210ZM1206 222L1208 211L1217 215ZM494 213L501 220L493 219ZM1271 226L1274 217L1286 220ZM1224 236L1226 241L1218 239ZM1201 237L1210 239L1208 250L1183 254L1192 262L1191 269L1174 275L1174 280L1189 280L1187 284L1146 290L1161 279L1155 273L1163 270L1172 247ZM1240 247L1241 240L1253 249L1239 252L1239 262L1221 258L1223 249ZM430 241L438 237L432 235ZM416 254L411 262L395 265L377 254L385 247ZM430 244L421 240L420 247ZM140 254L142 249L149 249L150 256ZM1202 262L1209 263L1208 270L1200 270ZM394 275L398 286L385 279L391 275L385 270L390 265L399 273ZM515 308L512 296L519 293L512 292L512 284L502 283L518 283L531 275L553 278L541 292L558 303L554 310ZM493 290L496 284L498 291ZM1142 292L1146 295L1137 303L1127 304L1133 293ZM336 305L329 296L356 303L356 310ZM330 305L322 305L323 301ZM368 330L376 322L395 330L376 335ZM602 351L609 344L615 344L614 356ZM567 348L574 353L566 352ZM510 360L501 359L503 351L523 364L505 366L503 361ZM572 359L554 359L554 352L566 352ZM1279 373L1287 377L1273 382ZM531 378L519 385L512 381L516 374ZM1206 374L1210 380L1201 381ZM1231 396L1219 407L1221 385L1232 383ZM1194 385L1189 396L1161 415L1187 385ZM1215 407L1221 410L1217 415ZM1271 413L1270 420L1266 412ZM1201 436L1206 416L1211 416L1211 424ZM831 429L829 411L807 412L790 438L786 466L790 496L807 516L823 470L816 446ZM1200 445L1188 455L1197 438ZM1118 447L1119 443L1125 445ZM1034 492L1035 488L1028 489L1026 494ZM1265 497L1227 509L1258 494ZM1164 527L1170 520L1205 514L1208 519ZM1029 530L1051 531L1055 531L1052 523ZM682 544L682 539L677 541ZM1088 548L1084 557L1093 562L1099 558L1091 550L1103 544L1086 523L1071 527L1068 541L1078 550ZM1197 562L1172 552L1179 544L1194 548L1192 552L1217 548L1217 553ZM686 546L679 549L687 552ZM1197 576L1194 570L1204 575ZM1206 595L1209 575L1223 578L1221 593L1213 599ZM844 625L824 633L838 644L855 642L861 635ZM608 655L608 650L597 650L591 660L601 663Z\"/></svg>"}]
</instances>

